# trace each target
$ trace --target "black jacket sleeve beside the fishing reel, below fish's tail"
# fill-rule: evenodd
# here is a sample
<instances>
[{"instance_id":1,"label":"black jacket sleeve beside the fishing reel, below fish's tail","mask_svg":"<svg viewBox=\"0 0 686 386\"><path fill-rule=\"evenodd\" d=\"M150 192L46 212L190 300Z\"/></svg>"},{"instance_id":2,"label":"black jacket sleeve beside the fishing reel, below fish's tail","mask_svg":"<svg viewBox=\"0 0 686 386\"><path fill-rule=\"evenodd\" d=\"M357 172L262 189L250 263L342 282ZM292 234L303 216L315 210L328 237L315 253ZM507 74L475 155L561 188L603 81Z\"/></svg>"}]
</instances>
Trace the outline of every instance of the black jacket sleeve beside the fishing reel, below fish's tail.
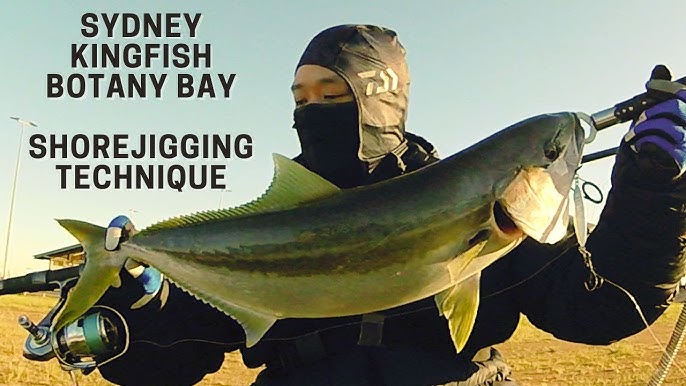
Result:
<instances>
[{"instance_id":1,"label":"black jacket sleeve beside the fishing reel, below fish's tail","mask_svg":"<svg viewBox=\"0 0 686 386\"><path fill-rule=\"evenodd\" d=\"M128 350L100 366L100 374L122 385L190 385L216 372L224 353L245 341L241 327L230 317L169 284L166 299L155 299L138 310L129 306L138 287L122 273L123 285L111 289L100 304L123 314L129 325ZM125 277L124 277L125 276Z\"/></svg>"}]
</instances>

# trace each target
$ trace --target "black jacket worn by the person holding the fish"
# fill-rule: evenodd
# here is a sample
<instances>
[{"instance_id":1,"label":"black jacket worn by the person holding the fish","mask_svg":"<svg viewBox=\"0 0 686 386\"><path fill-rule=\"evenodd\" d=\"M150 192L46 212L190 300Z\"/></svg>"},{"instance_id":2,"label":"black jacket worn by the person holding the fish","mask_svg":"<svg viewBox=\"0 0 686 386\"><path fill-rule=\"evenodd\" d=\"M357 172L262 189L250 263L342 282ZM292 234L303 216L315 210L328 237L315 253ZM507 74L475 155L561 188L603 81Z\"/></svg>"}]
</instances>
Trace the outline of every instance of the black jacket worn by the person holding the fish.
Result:
<instances>
[{"instance_id":1,"label":"black jacket worn by the person holding the fish","mask_svg":"<svg viewBox=\"0 0 686 386\"><path fill-rule=\"evenodd\" d=\"M405 165L435 161L428 143L409 137ZM376 177L402 173L396 161L382 161L379 166L386 166L376 173L385 175ZM439 384L475 373L474 353L509 338L520 313L560 339L612 343L645 327L615 284L636 298L652 323L666 309L684 272L686 183L654 183L646 177L650 173L622 149L613 188L587 244L596 271L608 280L601 288L591 292L584 286L589 269L573 234L555 245L527 239L483 271L476 324L459 355L432 298L384 311L379 342L373 341L378 324L362 316L286 319L245 349L235 321L172 286L161 310L152 305L127 312L129 351L100 372L127 385L192 384L218 370L225 351L241 349L246 365L267 365L259 385ZM135 297L117 291L103 302L124 310L124 299ZM368 337L360 342L363 329L372 332L371 344Z\"/></svg>"}]
</instances>

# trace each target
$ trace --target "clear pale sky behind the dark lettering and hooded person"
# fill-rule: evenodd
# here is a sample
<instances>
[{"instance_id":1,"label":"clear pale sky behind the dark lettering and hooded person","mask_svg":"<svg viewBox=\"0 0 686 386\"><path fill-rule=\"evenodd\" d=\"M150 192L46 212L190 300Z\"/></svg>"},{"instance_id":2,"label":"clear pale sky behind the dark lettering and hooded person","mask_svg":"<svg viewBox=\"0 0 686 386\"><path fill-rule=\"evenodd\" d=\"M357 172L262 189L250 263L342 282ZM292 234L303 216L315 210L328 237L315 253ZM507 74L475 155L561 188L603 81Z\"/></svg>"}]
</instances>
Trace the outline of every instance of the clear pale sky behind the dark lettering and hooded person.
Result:
<instances>
[{"instance_id":1,"label":"clear pale sky behind the dark lettering and hooded person","mask_svg":"<svg viewBox=\"0 0 686 386\"><path fill-rule=\"evenodd\" d=\"M40 4L40 5L39 5ZM686 73L686 3L646 1L205 1L5 2L0 14L0 251L4 251L20 116L27 128L9 245L10 275L36 265L34 254L75 242L54 221L76 218L102 225L129 214L139 227L170 216L232 206L266 188L271 153L293 156L289 87L307 42L345 23L397 31L412 76L408 128L450 155L519 120L557 111L593 113L641 92L652 67ZM195 39L124 39L81 35L84 13L202 13ZM182 29L182 32L186 32ZM181 100L173 87L161 99L48 99L46 76L78 72L148 73L70 68L72 43L211 44L212 68L159 70L170 77L235 73L230 99ZM171 82L171 81L170 81ZM626 127L600 134L587 152L615 146ZM253 138L253 156L228 165L230 191L60 189L55 166L78 160L36 160L28 136L49 134L183 135L240 133ZM79 163L100 163L83 160ZM135 163L127 160L123 163ZM485 162L498 162L486 160ZM114 160L106 161L114 165ZM119 162L121 163L121 162ZM155 161L155 163L160 163ZM196 164L198 162L195 162ZM609 188L612 161L584 166L581 176ZM591 216L601 208L590 207Z\"/></svg>"}]
</instances>

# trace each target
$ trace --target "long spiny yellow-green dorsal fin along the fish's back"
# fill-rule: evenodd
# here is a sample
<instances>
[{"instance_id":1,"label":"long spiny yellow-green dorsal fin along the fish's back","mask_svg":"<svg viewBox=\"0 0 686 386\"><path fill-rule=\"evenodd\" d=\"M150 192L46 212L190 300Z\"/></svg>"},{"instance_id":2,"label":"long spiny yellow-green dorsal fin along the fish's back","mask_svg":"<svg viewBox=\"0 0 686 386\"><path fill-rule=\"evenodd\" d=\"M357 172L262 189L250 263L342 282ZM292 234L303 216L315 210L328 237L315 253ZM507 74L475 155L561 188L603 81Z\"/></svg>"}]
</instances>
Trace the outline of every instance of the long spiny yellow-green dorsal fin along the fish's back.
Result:
<instances>
[{"instance_id":1,"label":"long spiny yellow-green dorsal fin along the fish's back","mask_svg":"<svg viewBox=\"0 0 686 386\"><path fill-rule=\"evenodd\" d=\"M274 153L274 178L262 196L246 204L219 210L198 212L174 217L153 224L140 233L165 228L184 227L199 222L223 220L231 217L247 216L277 210L291 209L296 206L333 196L341 191L339 187L313 173L299 163Z\"/></svg>"}]
</instances>

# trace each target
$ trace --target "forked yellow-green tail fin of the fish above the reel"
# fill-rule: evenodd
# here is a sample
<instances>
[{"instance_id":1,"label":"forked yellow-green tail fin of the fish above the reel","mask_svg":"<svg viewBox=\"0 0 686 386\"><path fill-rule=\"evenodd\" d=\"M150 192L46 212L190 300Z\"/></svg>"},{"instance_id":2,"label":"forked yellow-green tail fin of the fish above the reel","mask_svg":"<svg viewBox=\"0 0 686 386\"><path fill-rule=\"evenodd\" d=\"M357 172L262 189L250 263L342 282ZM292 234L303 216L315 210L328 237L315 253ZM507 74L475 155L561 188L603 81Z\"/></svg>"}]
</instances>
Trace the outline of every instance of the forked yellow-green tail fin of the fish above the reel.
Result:
<instances>
[{"instance_id":1,"label":"forked yellow-green tail fin of the fish above the reel","mask_svg":"<svg viewBox=\"0 0 686 386\"><path fill-rule=\"evenodd\" d=\"M105 228L77 220L57 220L81 243L86 266L52 325L53 331L76 320L102 297L111 285L120 283L119 271L126 262L120 251L105 249Z\"/></svg>"}]
</instances>

